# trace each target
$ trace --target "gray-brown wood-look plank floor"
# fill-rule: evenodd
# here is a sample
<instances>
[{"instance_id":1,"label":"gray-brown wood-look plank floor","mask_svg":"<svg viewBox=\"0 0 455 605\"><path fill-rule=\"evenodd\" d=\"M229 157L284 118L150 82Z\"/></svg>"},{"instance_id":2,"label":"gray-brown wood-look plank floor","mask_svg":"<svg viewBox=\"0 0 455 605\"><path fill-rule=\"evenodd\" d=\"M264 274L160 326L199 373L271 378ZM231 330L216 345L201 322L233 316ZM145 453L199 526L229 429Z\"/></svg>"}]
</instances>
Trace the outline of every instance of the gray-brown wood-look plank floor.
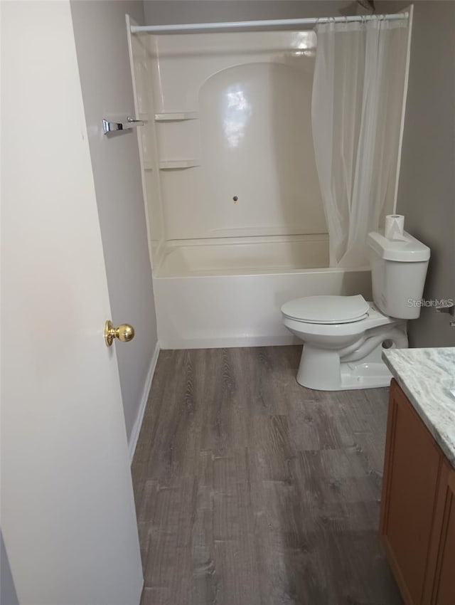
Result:
<instances>
[{"instance_id":1,"label":"gray-brown wood-look plank floor","mask_svg":"<svg viewBox=\"0 0 455 605\"><path fill-rule=\"evenodd\" d=\"M141 605L401 605L378 541L388 389L301 347L162 351L132 466Z\"/></svg>"}]
</instances>

